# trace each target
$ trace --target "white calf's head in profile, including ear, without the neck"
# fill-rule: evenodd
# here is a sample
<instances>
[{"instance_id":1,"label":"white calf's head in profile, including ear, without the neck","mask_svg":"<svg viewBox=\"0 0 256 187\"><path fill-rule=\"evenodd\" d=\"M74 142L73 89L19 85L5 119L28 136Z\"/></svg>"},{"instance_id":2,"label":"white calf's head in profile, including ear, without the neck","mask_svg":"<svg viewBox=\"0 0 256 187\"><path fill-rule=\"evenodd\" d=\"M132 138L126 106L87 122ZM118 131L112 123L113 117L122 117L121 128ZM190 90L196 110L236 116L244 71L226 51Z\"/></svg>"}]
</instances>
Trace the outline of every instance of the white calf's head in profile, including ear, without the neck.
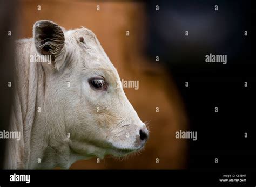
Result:
<instances>
[{"instance_id":1,"label":"white calf's head in profile, including ear, without the neck","mask_svg":"<svg viewBox=\"0 0 256 187\"><path fill-rule=\"evenodd\" d=\"M43 64L49 77L46 84L51 85L49 113L65 124L73 152L124 156L145 145L149 132L95 34L86 28L64 31L52 21L37 21L33 38L37 52L52 57L51 64Z\"/></svg>"}]
</instances>

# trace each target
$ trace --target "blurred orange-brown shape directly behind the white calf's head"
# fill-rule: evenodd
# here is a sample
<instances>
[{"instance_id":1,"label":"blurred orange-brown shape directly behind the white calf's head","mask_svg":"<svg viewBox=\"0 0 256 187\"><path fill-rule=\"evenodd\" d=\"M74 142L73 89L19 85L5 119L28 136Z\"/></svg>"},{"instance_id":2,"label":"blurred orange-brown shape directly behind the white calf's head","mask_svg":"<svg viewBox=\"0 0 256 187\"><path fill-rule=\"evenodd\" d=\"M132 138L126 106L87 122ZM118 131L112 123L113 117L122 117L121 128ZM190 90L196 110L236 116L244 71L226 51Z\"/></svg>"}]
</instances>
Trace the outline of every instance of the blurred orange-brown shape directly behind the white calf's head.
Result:
<instances>
[{"instance_id":1,"label":"blurred orange-brown shape directly behind the white calf's head","mask_svg":"<svg viewBox=\"0 0 256 187\"><path fill-rule=\"evenodd\" d=\"M41 11L37 6L41 6ZM97 5L100 11L96 10ZM120 78L139 80L139 90L124 91L142 121L149 121L150 139L140 154L125 159L105 158L74 163L70 169L183 169L187 142L175 139L186 130L187 119L179 93L158 62L150 63L142 53L146 15L142 2L129 1L21 1L19 38L32 37L37 20L52 20L67 30L84 26L102 44ZM126 31L130 36L126 36ZM156 112L159 107L159 112ZM156 163L159 158L159 163Z\"/></svg>"}]
</instances>

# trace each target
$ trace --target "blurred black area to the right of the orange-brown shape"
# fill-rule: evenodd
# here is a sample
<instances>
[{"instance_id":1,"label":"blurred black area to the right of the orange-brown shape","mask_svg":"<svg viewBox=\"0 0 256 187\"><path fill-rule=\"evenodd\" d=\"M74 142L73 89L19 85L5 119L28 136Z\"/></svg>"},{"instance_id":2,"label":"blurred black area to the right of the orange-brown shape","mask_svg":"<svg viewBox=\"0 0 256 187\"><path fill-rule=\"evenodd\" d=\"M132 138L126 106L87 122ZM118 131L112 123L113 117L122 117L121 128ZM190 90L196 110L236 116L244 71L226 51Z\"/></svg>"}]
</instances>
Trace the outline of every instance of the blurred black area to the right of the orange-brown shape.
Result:
<instances>
[{"instance_id":1,"label":"blurred black area to the right of the orange-brown shape","mask_svg":"<svg viewBox=\"0 0 256 187\"><path fill-rule=\"evenodd\" d=\"M190 130L198 133L198 140L189 142L188 168L255 168L252 1L158 1L160 13L155 4L147 6L146 53L159 56L169 69L184 99ZM210 53L227 55L227 64L206 63Z\"/></svg>"}]
</instances>

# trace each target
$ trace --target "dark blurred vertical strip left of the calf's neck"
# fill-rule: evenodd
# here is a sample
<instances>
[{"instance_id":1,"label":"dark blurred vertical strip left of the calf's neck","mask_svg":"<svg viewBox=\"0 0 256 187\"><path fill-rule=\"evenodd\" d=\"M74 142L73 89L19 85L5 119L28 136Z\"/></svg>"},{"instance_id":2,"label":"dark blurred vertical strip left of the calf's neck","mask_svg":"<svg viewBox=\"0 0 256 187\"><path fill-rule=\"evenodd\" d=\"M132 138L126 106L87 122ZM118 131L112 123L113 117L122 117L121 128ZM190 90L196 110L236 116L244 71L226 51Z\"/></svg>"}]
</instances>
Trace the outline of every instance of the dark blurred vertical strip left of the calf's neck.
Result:
<instances>
[{"instance_id":1,"label":"dark blurred vertical strip left of the calf's neck","mask_svg":"<svg viewBox=\"0 0 256 187\"><path fill-rule=\"evenodd\" d=\"M16 38L16 17L18 3L16 1L0 1L0 131L8 130L12 89L8 87L13 82L12 69L14 68L14 40ZM0 169L3 168L6 139L0 139Z\"/></svg>"}]
</instances>

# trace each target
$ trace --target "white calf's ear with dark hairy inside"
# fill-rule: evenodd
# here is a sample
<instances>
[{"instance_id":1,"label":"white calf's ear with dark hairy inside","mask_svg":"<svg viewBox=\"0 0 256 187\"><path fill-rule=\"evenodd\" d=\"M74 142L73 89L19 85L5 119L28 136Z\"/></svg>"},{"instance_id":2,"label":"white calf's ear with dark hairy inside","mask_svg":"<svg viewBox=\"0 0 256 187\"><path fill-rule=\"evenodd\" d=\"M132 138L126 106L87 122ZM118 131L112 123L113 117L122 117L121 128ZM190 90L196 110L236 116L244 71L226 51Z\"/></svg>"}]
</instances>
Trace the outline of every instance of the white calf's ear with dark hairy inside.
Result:
<instances>
[{"instance_id":1,"label":"white calf's ear with dark hairy inside","mask_svg":"<svg viewBox=\"0 0 256 187\"><path fill-rule=\"evenodd\" d=\"M65 50L65 37L62 28L48 20L37 21L33 26L33 39L36 49L41 55L51 55L56 67L56 59L63 55Z\"/></svg>"}]
</instances>

